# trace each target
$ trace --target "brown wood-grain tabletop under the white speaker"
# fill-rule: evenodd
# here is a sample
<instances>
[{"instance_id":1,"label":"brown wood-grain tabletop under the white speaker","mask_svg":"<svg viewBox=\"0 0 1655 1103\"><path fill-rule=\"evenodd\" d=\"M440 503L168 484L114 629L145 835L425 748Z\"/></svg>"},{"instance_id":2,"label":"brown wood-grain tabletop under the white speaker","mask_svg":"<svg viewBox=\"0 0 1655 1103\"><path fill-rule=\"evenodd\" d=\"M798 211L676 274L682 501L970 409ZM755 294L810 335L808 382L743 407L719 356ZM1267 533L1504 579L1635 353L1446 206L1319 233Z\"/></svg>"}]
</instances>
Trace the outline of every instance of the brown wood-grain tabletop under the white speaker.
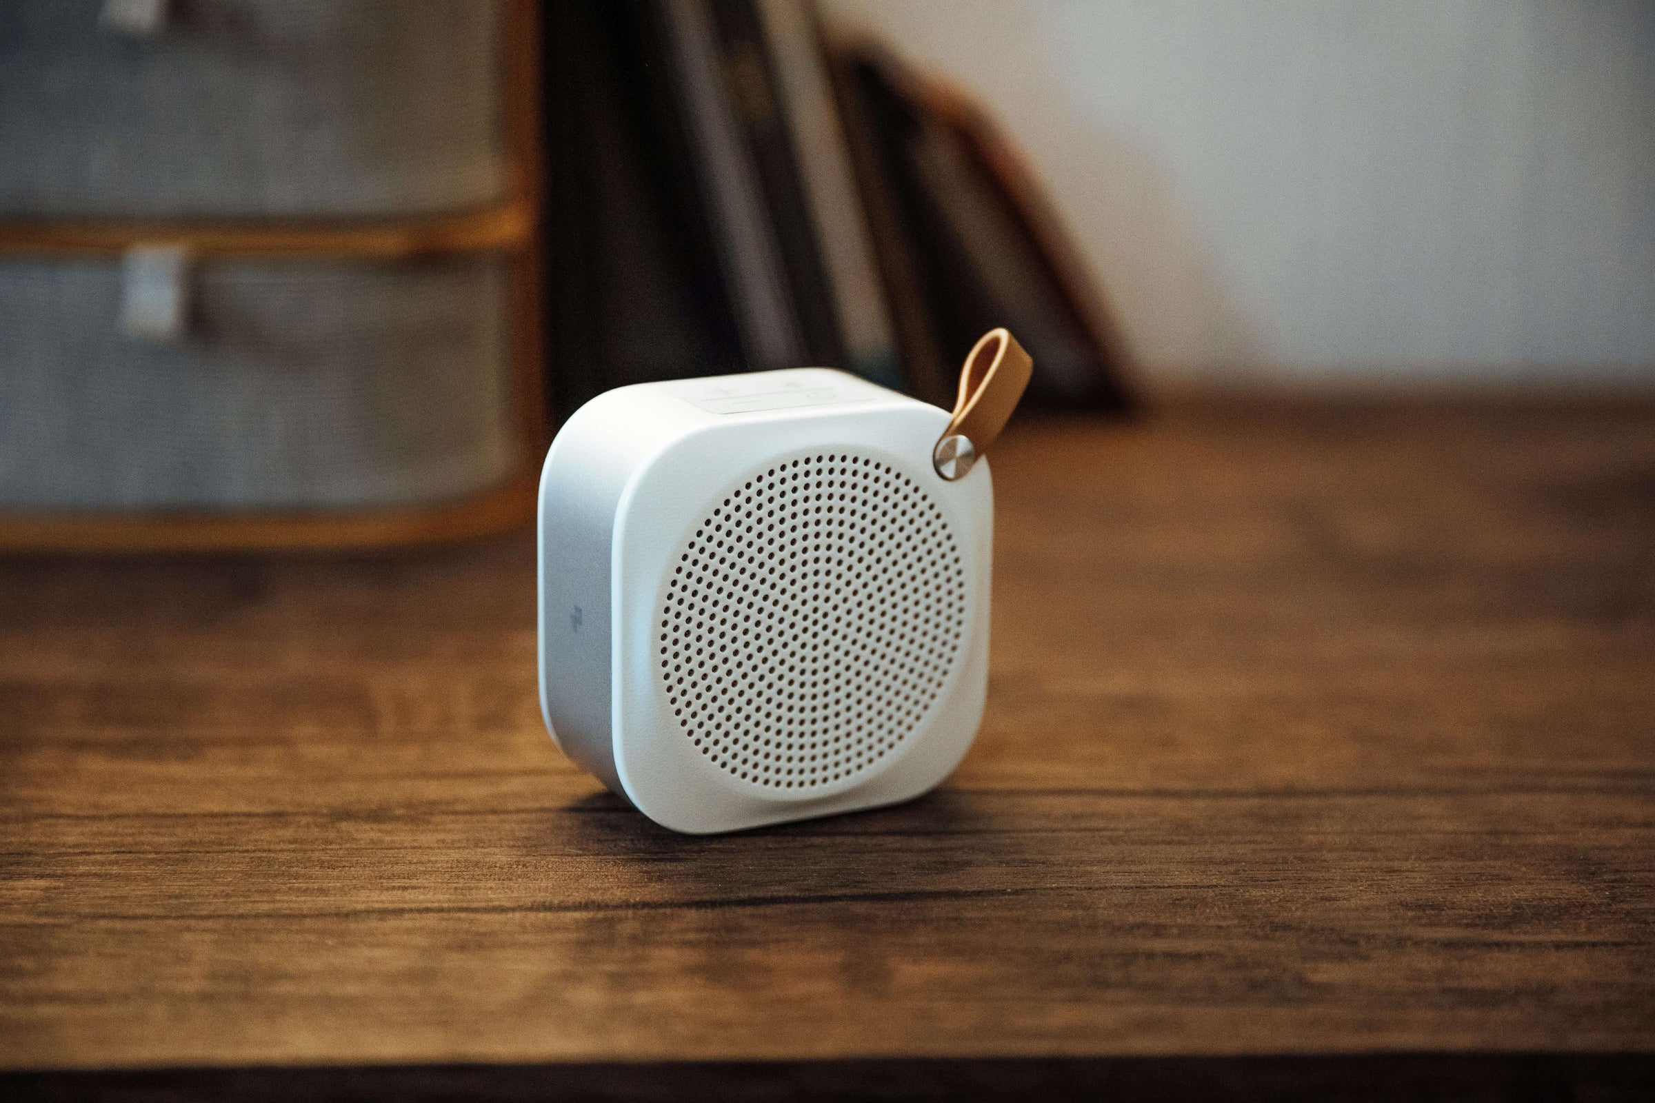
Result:
<instances>
[{"instance_id":1,"label":"brown wood-grain tabletop under the white speaker","mask_svg":"<svg viewBox=\"0 0 1655 1103\"><path fill-rule=\"evenodd\" d=\"M715 838L546 739L530 534L0 562L0 1091L1650 1083L1655 408L1031 422L995 480L960 771Z\"/></svg>"}]
</instances>

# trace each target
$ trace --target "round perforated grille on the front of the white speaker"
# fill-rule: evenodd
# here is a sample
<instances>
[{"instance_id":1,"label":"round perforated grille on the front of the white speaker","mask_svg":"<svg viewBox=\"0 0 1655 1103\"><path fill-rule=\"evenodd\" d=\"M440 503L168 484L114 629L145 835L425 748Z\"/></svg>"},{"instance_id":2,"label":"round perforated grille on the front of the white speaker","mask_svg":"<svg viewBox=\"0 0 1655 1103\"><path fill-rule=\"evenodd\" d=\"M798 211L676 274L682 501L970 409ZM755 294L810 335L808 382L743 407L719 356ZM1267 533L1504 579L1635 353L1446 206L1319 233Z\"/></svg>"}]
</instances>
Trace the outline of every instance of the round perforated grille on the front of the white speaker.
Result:
<instances>
[{"instance_id":1,"label":"round perforated grille on the front of the white speaker","mask_svg":"<svg viewBox=\"0 0 1655 1103\"><path fill-rule=\"evenodd\" d=\"M965 567L937 503L879 460L756 471L685 541L659 670L684 738L775 790L854 777L914 733L960 655Z\"/></svg>"}]
</instances>

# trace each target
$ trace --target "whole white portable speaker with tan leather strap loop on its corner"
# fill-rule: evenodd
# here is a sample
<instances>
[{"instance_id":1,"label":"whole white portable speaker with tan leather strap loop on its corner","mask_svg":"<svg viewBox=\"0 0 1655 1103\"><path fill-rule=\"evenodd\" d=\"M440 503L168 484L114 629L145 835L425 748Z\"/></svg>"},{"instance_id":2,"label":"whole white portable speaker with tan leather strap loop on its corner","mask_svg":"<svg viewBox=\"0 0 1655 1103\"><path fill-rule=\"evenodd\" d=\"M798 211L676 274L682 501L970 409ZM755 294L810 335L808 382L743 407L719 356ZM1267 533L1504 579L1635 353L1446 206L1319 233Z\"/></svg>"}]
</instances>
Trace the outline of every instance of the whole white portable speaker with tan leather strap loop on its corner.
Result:
<instances>
[{"instance_id":1,"label":"whole white portable speaker with tan leather strap loop on its corner","mask_svg":"<svg viewBox=\"0 0 1655 1103\"><path fill-rule=\"evenodd\" d=\"M983 714L983 451L1028 375L996 329L952 415L818 367L581 407L540 485L540 696L556 744L693 833L937 785Z\"/></svg>"}]
</instances>

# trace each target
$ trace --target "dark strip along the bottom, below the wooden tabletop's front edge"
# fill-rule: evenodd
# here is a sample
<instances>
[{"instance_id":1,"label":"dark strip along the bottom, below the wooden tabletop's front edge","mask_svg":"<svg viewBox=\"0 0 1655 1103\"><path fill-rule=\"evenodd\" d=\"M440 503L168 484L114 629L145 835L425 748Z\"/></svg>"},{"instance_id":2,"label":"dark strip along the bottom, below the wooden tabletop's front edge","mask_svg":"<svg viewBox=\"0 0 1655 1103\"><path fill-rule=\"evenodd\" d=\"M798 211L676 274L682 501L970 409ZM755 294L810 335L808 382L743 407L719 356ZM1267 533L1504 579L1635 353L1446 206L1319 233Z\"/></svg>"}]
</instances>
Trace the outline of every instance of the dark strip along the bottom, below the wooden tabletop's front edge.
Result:
<instances>
[{"instance_id":1,"label":"dark strip along the bottom, below the wooden tabletop's front edge","mask_svg":"<svg viewBox=\"0 0 1655 1103\"><path fill-rule=\"evenodd\" d=\"M5 1072L31 1103L1648 1103L1648 1053L1291 1053Z\"/></svg>"}]
</instances>

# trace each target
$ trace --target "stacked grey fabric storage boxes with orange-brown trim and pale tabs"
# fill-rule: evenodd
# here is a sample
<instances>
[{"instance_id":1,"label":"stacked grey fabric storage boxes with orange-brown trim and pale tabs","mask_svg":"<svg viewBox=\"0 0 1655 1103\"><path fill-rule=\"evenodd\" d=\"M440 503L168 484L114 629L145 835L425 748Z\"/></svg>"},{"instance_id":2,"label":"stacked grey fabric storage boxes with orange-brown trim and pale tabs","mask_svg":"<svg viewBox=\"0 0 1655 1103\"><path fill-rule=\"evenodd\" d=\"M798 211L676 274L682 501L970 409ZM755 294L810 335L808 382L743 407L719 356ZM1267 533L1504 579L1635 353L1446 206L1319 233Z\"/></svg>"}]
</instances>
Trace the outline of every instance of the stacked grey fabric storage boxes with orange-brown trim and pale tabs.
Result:
<instances>
[{"instance_id":1,"label":"stacked grey fabric storage boxes with orange-brown trim and pale tabs","mask_svg":"<svg viewBox=\"0 0 1655 1103\"><path fill-rule=\"evenodd\" d=\"M528 0L0 8L0 546L533 506Z\"/></svg>"}]
</instances>

